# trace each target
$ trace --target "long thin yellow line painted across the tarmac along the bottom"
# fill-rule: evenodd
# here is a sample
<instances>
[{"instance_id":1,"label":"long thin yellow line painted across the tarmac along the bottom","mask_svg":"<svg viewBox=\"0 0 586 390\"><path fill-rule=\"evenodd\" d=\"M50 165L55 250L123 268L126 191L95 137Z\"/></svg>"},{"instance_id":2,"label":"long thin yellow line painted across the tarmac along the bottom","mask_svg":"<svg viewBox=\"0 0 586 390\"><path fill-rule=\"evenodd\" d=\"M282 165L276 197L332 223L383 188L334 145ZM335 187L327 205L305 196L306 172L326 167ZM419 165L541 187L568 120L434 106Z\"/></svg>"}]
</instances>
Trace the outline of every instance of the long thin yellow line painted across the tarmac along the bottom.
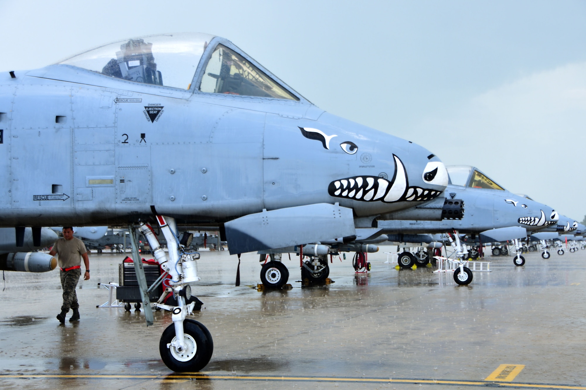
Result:
<instances>
[{"instance_id":1,"label":"long thin yellow line painted across the tarmac along the bottom","mask_svg":"<svg viewBox=\"0 0 586 390\"><path fill-rule=\"evenodd\" d=\"M512 365L512 364L508 364ZM519 370L520 371L520 370ZM493 373L494 374L494 373ZM491 374L492 375L492 374ZM515 374L516 375L516 374ZM375 383L408 383L408 384L437 384L437 385L469 385L482 386L493 384L499 387L517 387L517 388L539 388L539 389L563 389L563 390L586 390L584 386L571 385L548 385L548 384L530 384L530 383L505 383L494 381L449 381L442 379L393 379L393 378L336 378L336 377L274 377L274 376L246 376L246 375L206 375L203 373L185 373L185 374L171 374L171 375L74 375L74 374L33 374L33 375L3 375L2 378L93 378L93 379L156 379L164 383L180 383L187 382L190 379L213 380L213 379L228 379L228 380L263 380L263 381L315 381L315 382L375 382Z\"/></svg>"}]
</instances>

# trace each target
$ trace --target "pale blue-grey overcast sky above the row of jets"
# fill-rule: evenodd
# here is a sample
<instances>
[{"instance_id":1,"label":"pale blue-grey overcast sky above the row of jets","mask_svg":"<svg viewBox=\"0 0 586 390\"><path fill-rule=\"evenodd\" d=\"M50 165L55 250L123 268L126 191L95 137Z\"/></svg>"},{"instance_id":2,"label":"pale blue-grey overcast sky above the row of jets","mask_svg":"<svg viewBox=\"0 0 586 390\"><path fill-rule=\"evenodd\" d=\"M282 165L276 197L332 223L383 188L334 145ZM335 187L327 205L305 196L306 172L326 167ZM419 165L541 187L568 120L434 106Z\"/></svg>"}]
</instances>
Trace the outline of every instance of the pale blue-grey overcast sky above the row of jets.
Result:
<instances>
[{"instance_id":1,"label":"pale blue-grey overcast sky above the row of jets","mask_svg":"<svg viewBox=\"0 0 586 390\"><path fill-rule=\"evenodd\" d=\"M207 32L324 110L586 214L584 1L0 0L0 15L0 70Z\"/></svg>"}]
</instances>

